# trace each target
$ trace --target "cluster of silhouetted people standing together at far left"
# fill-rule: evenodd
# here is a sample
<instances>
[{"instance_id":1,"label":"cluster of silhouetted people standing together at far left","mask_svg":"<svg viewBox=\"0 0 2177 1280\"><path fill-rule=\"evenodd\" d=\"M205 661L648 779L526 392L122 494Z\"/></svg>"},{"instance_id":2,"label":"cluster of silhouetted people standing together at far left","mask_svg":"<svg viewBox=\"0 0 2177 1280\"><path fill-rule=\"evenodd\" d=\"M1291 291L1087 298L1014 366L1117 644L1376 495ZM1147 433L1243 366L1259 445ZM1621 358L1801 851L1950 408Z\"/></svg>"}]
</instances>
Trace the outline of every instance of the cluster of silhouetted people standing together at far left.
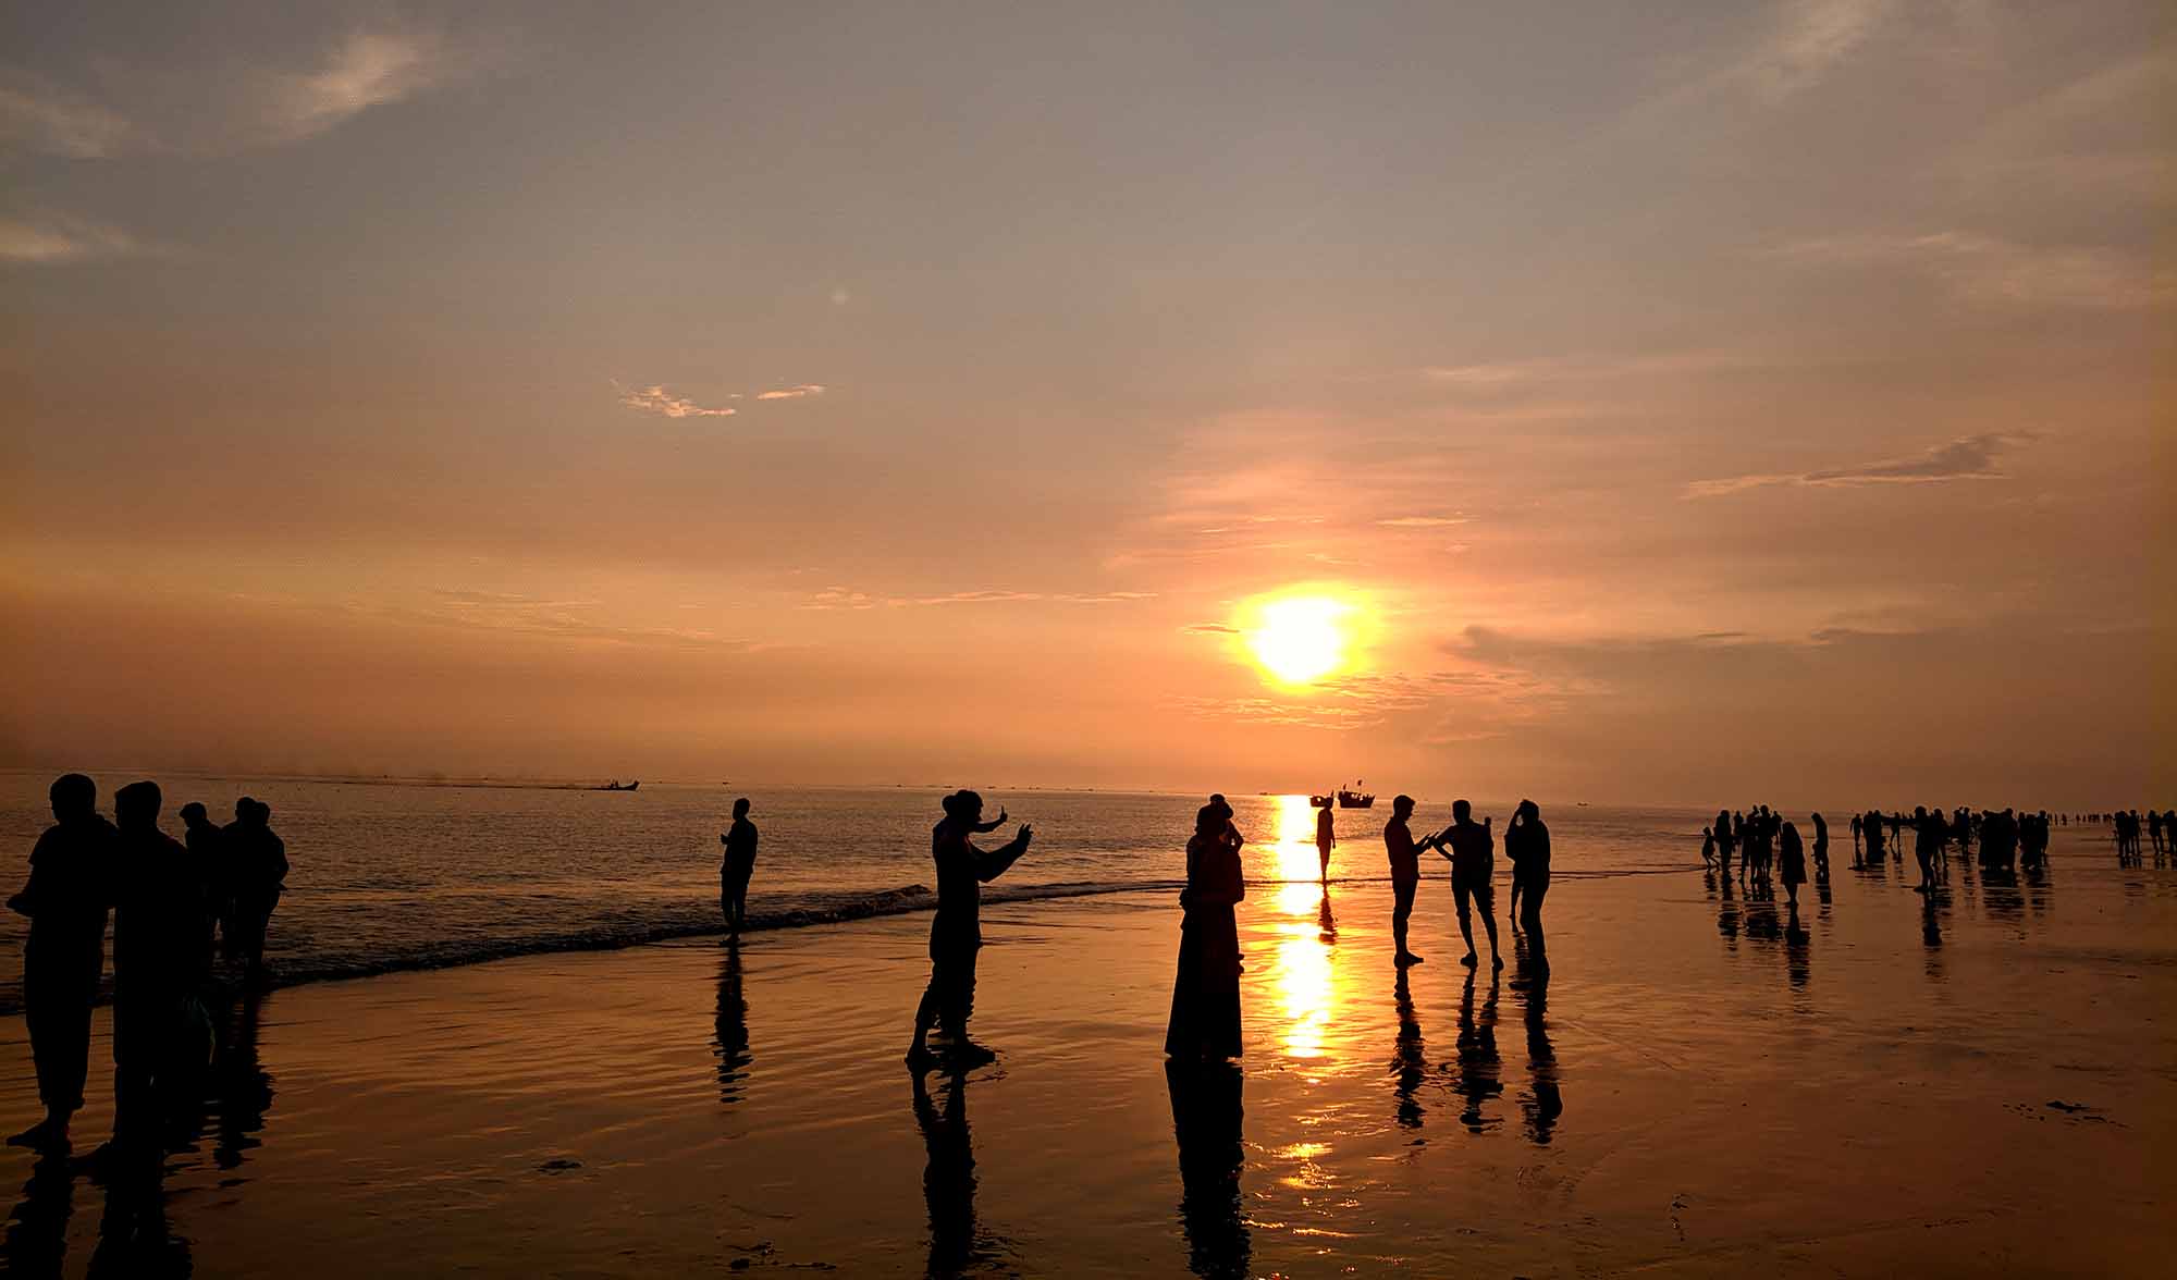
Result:
<instances>
[{"instance_id":1,"label":"cluster of silhouetted people standing together at far left","mask_svg":"<svg viewBox=\"0 0 2177 1280\"><path fill-rule=\"evenodd\" d=\"M30 919L22 1004L46 1117L11 1145L65 1149L89 1075L91 1006L104 982L113 916L113 1141L102 1158L157 1158L165 1121L200 1091L220 1041L224 980L213 951L263 980L266 925L287 877L272 808L250 797L213 825L183 805L185 840L159 829L163 795L133 781L98 812L98 784L54 779L52 827L30 851L30 879L9 910Z\"/></svg>"}]
</instances>

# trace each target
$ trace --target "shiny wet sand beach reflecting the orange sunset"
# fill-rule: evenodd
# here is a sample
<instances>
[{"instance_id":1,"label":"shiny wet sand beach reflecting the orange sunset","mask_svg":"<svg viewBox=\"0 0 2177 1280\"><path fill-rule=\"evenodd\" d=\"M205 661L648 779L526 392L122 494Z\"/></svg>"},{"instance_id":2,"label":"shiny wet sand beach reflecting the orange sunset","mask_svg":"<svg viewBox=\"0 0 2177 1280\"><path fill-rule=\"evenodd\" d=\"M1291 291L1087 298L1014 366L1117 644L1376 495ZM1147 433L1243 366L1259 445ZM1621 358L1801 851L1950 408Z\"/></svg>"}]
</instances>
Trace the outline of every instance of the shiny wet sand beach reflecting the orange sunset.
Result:
<instances>
[{"instance_id":1,"label":"shiny wet sand beach reflecting the orange sunset","mask_svg":"<svg viewBox=\"0 0 2177 1280\"><path fill-rule=\"evenodd\" d=\"M927 916L276 990L168 1160L163 1221L131 1243L102 1186L11 1149L7 1256L2070 1276L2162 1273L2177 1245L2177 873L1953 871L1929 912L1894 869L1840 864L1800 927L1698 871L1561 877L1546 986L1509 932L1506 971L1467 982L1437 875L1404 999L1382 884L1335 886L1330 930L1313 884L1250 893L1228 1078L1167 1080L1158 1054L1169 893L991 908L975 1032L1001 1060L921 1093L899 1051ZM78 1147L111 1117L104 1010L96 1036ZM26 1123L22 1019L0 1058Z\"/></svg>"}]
</instances>

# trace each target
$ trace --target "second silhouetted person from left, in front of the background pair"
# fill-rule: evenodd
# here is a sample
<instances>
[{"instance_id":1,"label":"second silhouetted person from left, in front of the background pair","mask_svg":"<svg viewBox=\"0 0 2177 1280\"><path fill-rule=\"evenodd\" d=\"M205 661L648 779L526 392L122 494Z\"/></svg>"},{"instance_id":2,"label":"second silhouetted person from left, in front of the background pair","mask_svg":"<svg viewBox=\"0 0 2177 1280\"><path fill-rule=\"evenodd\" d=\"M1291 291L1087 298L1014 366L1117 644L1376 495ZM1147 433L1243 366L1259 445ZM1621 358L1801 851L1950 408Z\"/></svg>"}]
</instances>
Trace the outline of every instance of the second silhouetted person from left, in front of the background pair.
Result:
<instances>
[{"instance_id":1,"label":"second silhouetted person from left, in front of the background pair","mask_svg":"<svg viewBox=\"0 0 2177 1280\"><path fill-rule=\"evenodd\" d=\"M189 853L159 829L159 784L113 795L113 1143L157 1158L165 1121L200 1088L211 1021L200 993L211 930Z\"/></svg>"}]
</instances>

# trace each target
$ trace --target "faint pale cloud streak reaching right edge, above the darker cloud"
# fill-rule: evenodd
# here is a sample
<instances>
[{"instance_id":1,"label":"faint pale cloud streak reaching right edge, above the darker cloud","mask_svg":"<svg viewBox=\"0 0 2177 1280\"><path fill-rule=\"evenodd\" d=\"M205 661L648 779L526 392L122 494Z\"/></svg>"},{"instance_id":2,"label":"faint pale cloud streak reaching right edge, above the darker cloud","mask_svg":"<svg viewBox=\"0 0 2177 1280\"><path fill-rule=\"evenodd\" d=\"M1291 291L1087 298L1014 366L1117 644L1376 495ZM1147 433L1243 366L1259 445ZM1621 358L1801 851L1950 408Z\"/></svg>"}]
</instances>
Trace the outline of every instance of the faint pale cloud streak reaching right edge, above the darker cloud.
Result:
<instances>
[{"instance_id":1,"label":"faint pale cloud streak reaching right edge, above the darker cloud","mask_svg":"<svg viewBox=\"0 0 2177 1280\"><path fill-rule=\"evenodd\" d=\"M1964 303L2138 309L2177 303L2177 270L2099 246L2029 246L1970 231L1803 239L1770 250L1807 263L1901 266Z\"/></svg>"}]
</instances>

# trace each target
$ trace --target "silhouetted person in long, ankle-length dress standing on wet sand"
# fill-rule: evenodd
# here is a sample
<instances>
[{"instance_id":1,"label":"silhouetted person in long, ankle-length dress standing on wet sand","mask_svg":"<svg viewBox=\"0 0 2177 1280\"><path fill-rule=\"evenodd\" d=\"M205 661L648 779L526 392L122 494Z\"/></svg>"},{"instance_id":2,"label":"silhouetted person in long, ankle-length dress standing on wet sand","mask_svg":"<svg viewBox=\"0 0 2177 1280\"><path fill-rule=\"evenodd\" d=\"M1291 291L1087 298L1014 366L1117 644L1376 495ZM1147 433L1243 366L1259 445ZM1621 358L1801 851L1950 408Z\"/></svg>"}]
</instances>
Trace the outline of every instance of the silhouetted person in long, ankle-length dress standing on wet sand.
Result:
<instances>
[{"instance_id":1,"label":"silhouetted person in long, ankle-length dress standing on wet sand","mask_svg":"<svg viewBox=\"0 0 2177 1280\"><path fill-rule=\"evenodd\" d=\"M1186 888L1180 890L1180 971L1171 982L1165 1054L1173 1058L1239 1058L1239 925L1232 908L1247 897L1241 836L1223 797L1202 805L1186 840Z\"/></svg>"}]
</instances>

